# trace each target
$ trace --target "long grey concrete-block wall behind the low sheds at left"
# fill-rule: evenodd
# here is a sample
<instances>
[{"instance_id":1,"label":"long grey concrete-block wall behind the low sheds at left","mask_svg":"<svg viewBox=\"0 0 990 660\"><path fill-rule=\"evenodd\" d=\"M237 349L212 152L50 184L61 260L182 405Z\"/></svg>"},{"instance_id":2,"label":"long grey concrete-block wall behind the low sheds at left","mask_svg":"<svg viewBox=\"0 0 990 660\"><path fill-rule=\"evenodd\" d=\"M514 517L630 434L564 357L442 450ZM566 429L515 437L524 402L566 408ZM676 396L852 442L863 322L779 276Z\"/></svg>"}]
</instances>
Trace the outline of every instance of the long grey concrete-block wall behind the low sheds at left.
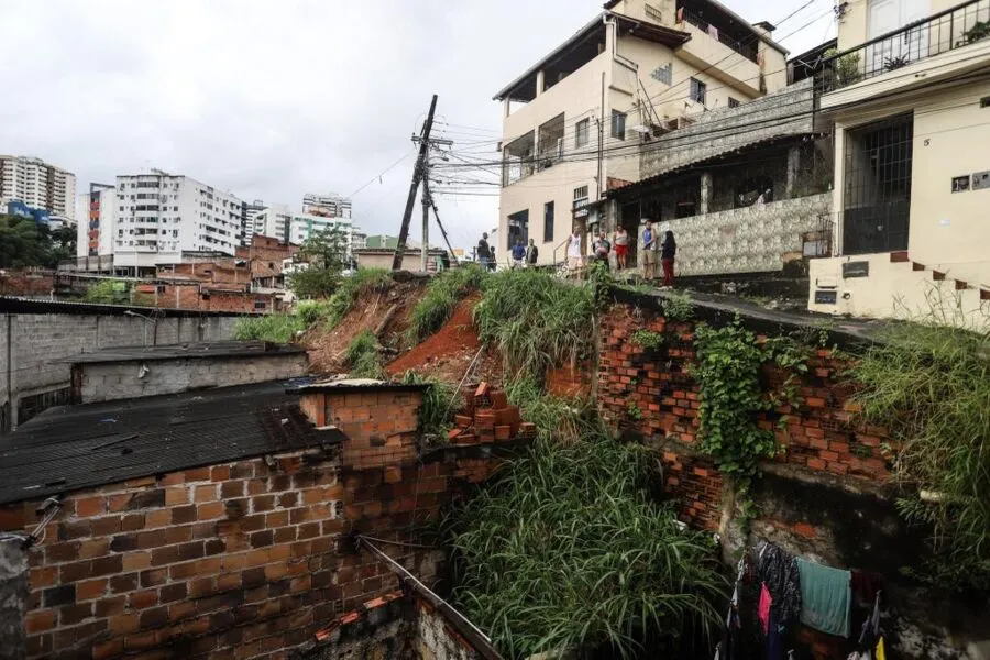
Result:
<instances>
[{"instance_id":1,"label":"long grey concrete-block wall behind the low sheds at left","mask_svg":"<svg viewBox=\"0 0 990 660\"><path fill-rule=\"evenodd\" d=\"M166 317L152 323L142 318L75 314L6 314L0 316L0 408L11 410L8 428L19 421L24 399L64 392L72 365L61 362L99 349L222 341L233 337L237 317Z\"/></svg>"}]
</instances>

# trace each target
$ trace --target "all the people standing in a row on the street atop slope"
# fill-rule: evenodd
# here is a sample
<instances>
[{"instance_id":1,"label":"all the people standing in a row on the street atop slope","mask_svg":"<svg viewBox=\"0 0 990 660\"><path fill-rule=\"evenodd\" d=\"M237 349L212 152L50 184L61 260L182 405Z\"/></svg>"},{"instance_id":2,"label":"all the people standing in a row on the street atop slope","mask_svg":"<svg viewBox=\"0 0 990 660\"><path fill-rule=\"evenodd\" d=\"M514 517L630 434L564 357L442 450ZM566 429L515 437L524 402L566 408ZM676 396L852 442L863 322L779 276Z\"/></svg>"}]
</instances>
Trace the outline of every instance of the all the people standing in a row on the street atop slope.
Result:
<instances>
[{"instance_id":1,"label":"all the people standing in a row on the street atop slope","mask_svg":"<svg viewBox=\"0 0 990 660\"><path fill-rule=\"evenodd\" d=\"M629 254L629 233L626 228L619 227L609 241L607 234L602 231L595 238L592 244L592 253L594 260L609 267L609 256L615 253L616 267L625 270L629 266L627 263ZM574 231L568 239L568 267L571 271L578 271L584 265L583 251L581 249L581 232L575 227ZM674 240L673 232L668 230L663 233L661 240L660 232L653 228L652 222L647 222L642 230L642 276L645 279L657 278L657 261L659 256L660 264L663 268L663 285L672 286L674 280L674 258L678 253L678 242ZM512 267L522 268L532 267L539 258L539 249L532 239L529 244L524 244L522 239L516 239L516 243L512 248ZM495 258L494 253L488 245L488 234L483 233L482 239L477 242L477 261L483 267L494 271Z\"/></svg>"}]
</instances>

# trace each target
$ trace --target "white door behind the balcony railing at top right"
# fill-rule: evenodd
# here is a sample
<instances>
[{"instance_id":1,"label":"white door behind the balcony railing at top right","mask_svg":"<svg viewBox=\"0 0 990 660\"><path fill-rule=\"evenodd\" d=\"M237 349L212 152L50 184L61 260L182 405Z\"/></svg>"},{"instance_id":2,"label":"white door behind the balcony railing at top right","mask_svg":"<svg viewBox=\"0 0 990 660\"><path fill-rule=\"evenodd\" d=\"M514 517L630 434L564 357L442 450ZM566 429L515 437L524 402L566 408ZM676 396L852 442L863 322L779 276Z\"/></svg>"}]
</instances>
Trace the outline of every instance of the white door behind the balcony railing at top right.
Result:
<instances>
[{"instance_id":1,"label":"white door behind the balcony railing at top right","mask_svg":"<svg viewBox=\"0 0 990 660\"><path fill-rule=\"evenodd\" d=\"M870 0L869 40L924 19L928 0ZM928 26L920 25L867 48L866 73L875 76L927 56Z\"/></svg>"}]
</instances>

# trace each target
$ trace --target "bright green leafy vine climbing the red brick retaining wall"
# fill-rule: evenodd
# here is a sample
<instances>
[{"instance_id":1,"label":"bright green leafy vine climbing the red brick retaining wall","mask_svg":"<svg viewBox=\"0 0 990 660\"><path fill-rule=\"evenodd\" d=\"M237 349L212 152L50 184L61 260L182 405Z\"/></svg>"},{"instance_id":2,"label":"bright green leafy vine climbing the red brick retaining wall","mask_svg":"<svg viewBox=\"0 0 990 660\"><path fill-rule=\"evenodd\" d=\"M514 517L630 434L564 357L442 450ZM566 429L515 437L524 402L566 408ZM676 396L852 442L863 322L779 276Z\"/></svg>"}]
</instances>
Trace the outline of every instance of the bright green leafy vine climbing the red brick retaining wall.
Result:
<instances>
[{"instance_id":1,"label":"bright green leafy vine climbing the red brick retaining wall","mask_svg":"<svg viewBox=\"0 0 990 660\"><path fill-rule=\"evenodd\" d=\"M807 365L795 342L788 338L760 342L738 319L724 328L698 323L695 346L697 362L691 372L701 385L700 448L744 492L759 474L759 462L779 451L773 431L759 427L759 414L794 404L794 374L806 372ZM767 362L791 374L769 395L760 381L760 367Z\"/></svg>"}]
</instances>

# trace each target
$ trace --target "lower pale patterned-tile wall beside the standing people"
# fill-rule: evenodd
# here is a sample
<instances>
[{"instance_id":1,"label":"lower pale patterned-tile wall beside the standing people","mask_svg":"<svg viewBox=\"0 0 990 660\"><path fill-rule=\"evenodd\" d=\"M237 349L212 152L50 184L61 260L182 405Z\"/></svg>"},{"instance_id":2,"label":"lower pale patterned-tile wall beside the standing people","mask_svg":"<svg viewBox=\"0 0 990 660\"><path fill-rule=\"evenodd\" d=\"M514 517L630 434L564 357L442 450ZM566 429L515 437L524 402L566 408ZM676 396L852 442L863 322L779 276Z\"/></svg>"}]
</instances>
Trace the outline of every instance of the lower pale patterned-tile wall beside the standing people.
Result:
<instances>
[{"instance_id":1,"label":"lower pale patterned-tile wall beside the standing people","mask_svg":"<svg viewBox=\"0 0 990 660\"><path fill-rule=\"evenodd\" d=\"M803 233L832 213L832 194L664 221L678 241L679 275L780 271L784 256L800 256Z\"/></svg>"}]
</instances>

